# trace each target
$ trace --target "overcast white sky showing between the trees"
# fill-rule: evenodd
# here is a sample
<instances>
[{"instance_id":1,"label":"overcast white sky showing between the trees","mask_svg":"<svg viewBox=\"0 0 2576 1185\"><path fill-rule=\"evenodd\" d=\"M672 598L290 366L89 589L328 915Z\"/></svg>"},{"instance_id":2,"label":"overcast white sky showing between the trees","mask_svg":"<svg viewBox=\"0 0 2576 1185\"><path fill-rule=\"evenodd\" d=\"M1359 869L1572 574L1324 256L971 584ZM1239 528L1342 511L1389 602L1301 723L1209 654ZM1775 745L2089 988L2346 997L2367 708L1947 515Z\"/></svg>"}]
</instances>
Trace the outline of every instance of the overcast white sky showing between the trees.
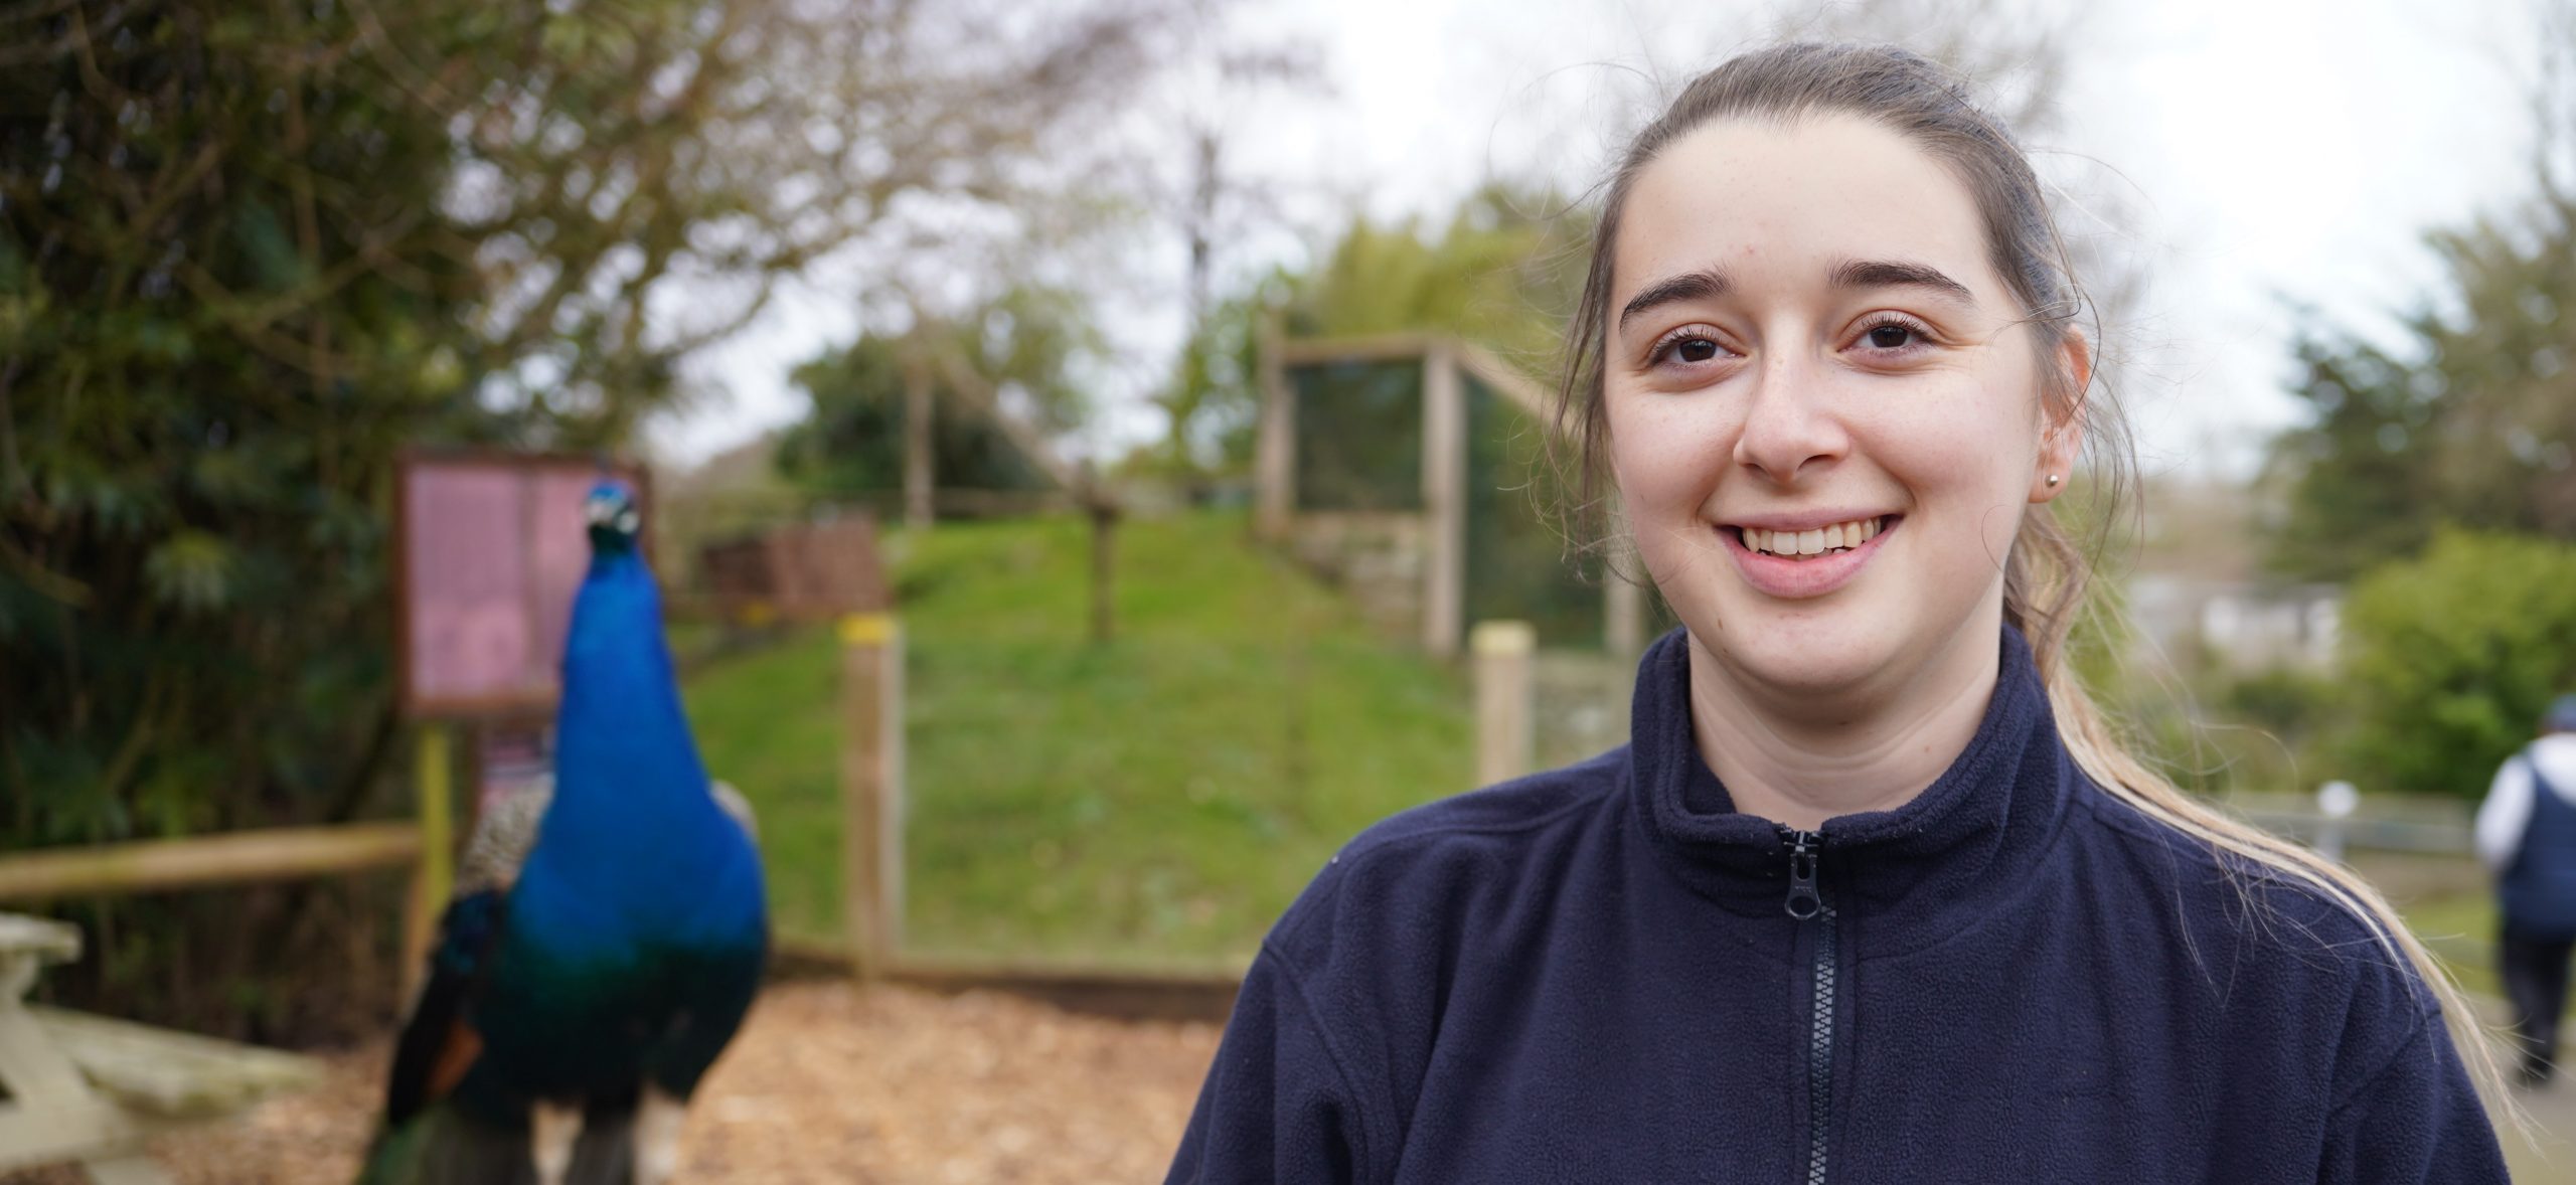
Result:
<instances>
[{"instance_id":1,"label":"overcast white sky showing between the trees","mask_svg":"<svg viewBox=\"0 0 2576 1185\"><path fill-rule=\"evenodd\" d=\"M2125 250L2151 291L2128 327L2141 348L2123 397L2148 471L2244 471L2295 415L2280 386L2293 332L2280 296L2385 330L2388 312L2437 286L2424 229L2524 193L2527 3L2174 0L2087 18L2069 52L2066 126L2035 147L2125 178ZM1224 245L1221 268L1298 258L1352 206L1440 216L1497 170L1589 185L1646 116L1633 108L1638 72L1687 77L1770 23L1752 3L1255 5L1244 28L1311 39L1329 93L1236 113L1244 170L1278 185L1293 229ZM1110 441L1159 430L1144 392L1180 337L1182 255L1177 240L1139 245L1139 258L1157 252L1167 283L1100 307L1123 353L1103 392ZM860 278L791 286L706 353L693 379L708 394L652 428L654 451L693 464L796 420L804 397L786 374L858 332L850 283Z\"/></svg>"}]
</instances>

